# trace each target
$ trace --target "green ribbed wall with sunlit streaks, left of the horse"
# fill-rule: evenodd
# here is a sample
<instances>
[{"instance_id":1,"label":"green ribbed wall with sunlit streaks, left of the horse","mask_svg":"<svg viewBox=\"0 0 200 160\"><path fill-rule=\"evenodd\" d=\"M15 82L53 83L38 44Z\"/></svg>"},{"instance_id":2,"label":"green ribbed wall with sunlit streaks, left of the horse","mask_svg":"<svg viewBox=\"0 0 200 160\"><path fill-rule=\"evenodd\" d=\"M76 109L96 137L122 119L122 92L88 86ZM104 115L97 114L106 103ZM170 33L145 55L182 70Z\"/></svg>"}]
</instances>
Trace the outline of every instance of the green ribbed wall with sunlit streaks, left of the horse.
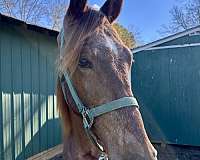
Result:
<instances>
[{"instance_id":1,"label":"green ribbed wall with sunlit streaks, left of the horse","mask_svg":"<svg viewBox=\"0 0 200 160\"><path fill-rule=\"evenodd\" d=\"M56 56L56 37L0 22L0 160L61 143Z\"/></svg>"}]
</instances>

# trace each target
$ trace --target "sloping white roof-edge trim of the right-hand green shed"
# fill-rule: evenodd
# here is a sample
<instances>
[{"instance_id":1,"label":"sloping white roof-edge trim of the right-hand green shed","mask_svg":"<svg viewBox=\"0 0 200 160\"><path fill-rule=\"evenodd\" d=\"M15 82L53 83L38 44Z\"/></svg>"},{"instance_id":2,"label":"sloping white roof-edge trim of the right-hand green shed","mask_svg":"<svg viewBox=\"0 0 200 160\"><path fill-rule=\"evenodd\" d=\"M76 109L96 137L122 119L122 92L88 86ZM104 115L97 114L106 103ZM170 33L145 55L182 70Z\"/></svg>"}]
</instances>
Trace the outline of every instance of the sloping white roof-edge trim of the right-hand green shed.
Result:
<instances>
[{"instance_id":1,"label":"sloping white roof-edge trim of the right-hand green shed","mask_svg":"<svg viewBox=\"0 0 200 160\"><path fill-rule=\"evenodd\" d=\"M150 49L152 47L156 47L156 46L158 46L160 44L163 44L163 43L166 43L166 42L172 41L174 39L177 39L177 38L180 38L180 37L192 34L192 33L196 33L196 32L200 32L200 25L196 26L196 27L193 27L193 28L190 28L190 29L187 29L185 31L176 33L174 35L170 35L168 37L159 39L157 41L145 44L143 46L137 47L137 48L133 49L133 53L137 53L137 52L140 52L140 51L143 51L143 50L147 50L147 49Z\"/></svg>"}]
</instances>

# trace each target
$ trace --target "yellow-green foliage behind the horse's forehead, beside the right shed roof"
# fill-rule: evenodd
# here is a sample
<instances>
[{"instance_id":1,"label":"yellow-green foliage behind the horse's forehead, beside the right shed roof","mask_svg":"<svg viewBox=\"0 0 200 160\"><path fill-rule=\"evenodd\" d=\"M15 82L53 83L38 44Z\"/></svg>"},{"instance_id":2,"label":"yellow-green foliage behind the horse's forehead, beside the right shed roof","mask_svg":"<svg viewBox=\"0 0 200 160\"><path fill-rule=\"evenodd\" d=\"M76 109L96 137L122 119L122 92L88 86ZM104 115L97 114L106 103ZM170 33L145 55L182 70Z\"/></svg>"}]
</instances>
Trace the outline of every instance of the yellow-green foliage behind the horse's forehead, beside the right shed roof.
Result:
<instances>
[{"instance_id":1,"label":"yellow-green foliage behind the horse's forehead, beside the right shed roof","mask_svg":"<svg viewBox=\"0 0 200 160\"><path fill-rule=\"evenodd\" d=\"M135 37L132 32L128 31L128 29L126 29L119 23L114 23L113 27L127 47L133 49L136 46Z\"/></svg>"}]
</instances>

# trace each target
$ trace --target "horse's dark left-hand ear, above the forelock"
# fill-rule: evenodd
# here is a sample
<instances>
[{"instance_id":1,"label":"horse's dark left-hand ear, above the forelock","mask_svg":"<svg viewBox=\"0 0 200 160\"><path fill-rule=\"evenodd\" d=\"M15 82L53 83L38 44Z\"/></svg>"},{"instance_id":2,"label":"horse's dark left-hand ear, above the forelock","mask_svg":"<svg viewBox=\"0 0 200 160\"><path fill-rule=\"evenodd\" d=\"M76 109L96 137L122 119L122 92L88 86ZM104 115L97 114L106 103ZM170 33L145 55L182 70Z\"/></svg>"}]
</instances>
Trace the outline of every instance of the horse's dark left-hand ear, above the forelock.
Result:
<instances>
[{"instance_id":1,"label":"horse's dark left-hand ear, above the forelock","mask_svg":"<svg viewBox=\"0 0 200 160\"><path fill-rule=\"evenodd\" d=\"M83 14L87 8L87 0L70 0L69 8L67 10L68 16L78 18Z\"/></svg>"}]
</instances>

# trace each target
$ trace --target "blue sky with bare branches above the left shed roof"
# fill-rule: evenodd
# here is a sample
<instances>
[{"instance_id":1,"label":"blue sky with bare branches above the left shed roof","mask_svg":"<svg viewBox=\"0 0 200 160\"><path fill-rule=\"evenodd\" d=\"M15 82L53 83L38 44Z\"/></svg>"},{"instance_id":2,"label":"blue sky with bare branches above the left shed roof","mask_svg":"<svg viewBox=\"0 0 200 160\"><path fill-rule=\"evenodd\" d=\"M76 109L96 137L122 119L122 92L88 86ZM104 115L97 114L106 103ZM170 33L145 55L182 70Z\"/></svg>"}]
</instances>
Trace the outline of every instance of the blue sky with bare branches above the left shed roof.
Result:
<instances>
[{"instance_id":1,"label":"blue sky with bare branches above the left shed roof","mask_svg":"<svg viewBox=\"0 0 200 160\"><path fill-rule=\"evenodd\" d=\"M0 12L28 23L60 29L67 0L0 0Z\"/></svg>"}]
</instances>

